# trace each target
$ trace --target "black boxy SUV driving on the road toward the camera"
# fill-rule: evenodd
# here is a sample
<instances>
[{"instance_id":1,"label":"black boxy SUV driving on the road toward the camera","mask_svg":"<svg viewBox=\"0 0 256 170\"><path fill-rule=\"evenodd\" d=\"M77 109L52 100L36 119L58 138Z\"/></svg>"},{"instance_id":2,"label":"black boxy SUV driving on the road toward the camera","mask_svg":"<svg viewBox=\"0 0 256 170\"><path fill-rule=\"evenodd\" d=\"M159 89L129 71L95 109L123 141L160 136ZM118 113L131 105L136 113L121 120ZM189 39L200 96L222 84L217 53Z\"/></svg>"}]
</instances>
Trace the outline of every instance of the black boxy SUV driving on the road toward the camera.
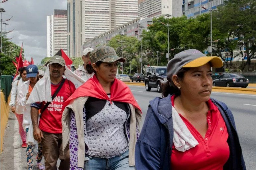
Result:
<instances>
[{"instance_id":1,"label":"black boxy SUV driving on the road toward the camera","mask_svg":"<svg viewBox=\"0 0 256 170\"><path fill-rule=\"evenodd\" d=\"M146 68L145 87L150 91L152 87L158 92L162 91L163 85L167 82L167 66L151 66Z\"/></svg>"}]
</instances>

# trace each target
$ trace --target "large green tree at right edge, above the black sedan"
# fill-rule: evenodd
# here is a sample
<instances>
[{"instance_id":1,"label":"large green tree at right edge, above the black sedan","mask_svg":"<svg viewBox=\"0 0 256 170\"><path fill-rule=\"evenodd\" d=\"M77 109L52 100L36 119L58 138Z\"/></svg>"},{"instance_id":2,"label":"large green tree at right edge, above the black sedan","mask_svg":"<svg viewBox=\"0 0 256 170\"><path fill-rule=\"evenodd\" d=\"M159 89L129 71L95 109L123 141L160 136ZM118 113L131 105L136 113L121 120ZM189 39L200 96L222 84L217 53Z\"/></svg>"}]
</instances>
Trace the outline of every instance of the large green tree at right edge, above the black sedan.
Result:
<instances>
[{"instance_id":1,"label":"large green tree at right edge, above the black sedan","mask_svg":"<svg viewBox=\"0 0 256 170\"><path fill-rule=\"evenodd\" d=\"M232 12L230 12L232 11ZM232 66L233 51L240 48L241 65L239 69L244 71L250 65L251 59L256 58L256 2L254 0L229 0L213 13L213 23L222 36L225 43L220 44L222 51L228 51L231 55ZM243 50L245 49L245 52ZM245 61L245 58L247 60Z\"/></svg>"}]
</instances>

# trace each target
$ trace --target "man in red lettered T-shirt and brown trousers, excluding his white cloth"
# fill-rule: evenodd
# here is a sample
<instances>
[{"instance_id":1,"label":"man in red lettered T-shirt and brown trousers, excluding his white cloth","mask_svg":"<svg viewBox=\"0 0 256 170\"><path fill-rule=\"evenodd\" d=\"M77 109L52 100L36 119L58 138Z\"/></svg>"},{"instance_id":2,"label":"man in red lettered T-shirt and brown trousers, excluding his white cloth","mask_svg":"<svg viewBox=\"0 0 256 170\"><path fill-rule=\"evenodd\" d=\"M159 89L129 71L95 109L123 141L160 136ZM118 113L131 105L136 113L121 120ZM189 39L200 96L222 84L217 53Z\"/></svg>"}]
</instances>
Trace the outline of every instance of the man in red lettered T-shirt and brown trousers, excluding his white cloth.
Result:
<instances>
[{"instance_id":1,"label":"man in red lettered T-shirt and brown trousers, excluding his white cloth","mask_svg":"<svg viewBox=\"0 0 256 170\"><path fill-rule=\"evenodd\" d=\"M51 57L49 61L49 77L51 83L49 93L51 93L51 96L61 84L64 71L64 59L61 56ZM54 97L44 111L43 108L46 102L31 104L31 119L34 128L33 135L35 140L38 142L42 141L45 170L56 170L58 158L61 161L59 169L69 170L69 150L66 153L62 151L61 116L63 103L74 91L75 85L65 79L56 97ZM40 124L38 124L39 109L41 109Z\"/></svg>"}]
</instances>

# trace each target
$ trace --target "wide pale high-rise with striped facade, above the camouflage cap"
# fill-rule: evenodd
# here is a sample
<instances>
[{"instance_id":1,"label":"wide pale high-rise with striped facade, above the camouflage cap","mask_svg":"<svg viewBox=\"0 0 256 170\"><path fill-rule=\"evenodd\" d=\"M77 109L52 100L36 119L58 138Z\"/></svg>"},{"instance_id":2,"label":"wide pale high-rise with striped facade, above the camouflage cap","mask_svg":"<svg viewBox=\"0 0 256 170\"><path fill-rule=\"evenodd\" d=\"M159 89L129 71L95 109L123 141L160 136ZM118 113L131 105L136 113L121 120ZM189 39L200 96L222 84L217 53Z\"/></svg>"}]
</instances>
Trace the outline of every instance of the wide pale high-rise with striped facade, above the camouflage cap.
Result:
<instances>
[{"instance_id":1,"label":"wide pale high-rise with striped facade, above the camouflage cap","mask_svg":"<svg viewBox=\"0 0 256 170\"><path fill-rule=\"evenodd\" d=\"M82 43L138 17L137 0L67 0L68 55L82 56Z\"/></svg>"}]
</instances>

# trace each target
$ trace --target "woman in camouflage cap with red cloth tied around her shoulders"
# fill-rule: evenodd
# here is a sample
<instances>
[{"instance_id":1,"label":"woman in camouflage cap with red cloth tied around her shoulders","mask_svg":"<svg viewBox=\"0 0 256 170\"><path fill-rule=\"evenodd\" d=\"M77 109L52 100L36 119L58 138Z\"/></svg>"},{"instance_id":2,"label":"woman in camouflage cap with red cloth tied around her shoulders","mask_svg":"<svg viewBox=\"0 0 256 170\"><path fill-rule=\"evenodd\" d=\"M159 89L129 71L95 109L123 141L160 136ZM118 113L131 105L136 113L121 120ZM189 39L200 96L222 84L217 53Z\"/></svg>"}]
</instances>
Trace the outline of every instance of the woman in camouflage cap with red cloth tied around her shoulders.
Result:
<instances>
[{"instance_id":1,"label":"woman in camouflage cap with red cloth tied around her shoulders","mask_svg":"<svg viewBox=\"0 0 256 170\"><path fill-rule=\"evenodd\" d=\"M135 169L141 109L128 86L116 79L117 63L125 59L102 45L91 52L90 60L95 75L70 96L62 116L70 168Z\"/></svg>"}]
</instances>

